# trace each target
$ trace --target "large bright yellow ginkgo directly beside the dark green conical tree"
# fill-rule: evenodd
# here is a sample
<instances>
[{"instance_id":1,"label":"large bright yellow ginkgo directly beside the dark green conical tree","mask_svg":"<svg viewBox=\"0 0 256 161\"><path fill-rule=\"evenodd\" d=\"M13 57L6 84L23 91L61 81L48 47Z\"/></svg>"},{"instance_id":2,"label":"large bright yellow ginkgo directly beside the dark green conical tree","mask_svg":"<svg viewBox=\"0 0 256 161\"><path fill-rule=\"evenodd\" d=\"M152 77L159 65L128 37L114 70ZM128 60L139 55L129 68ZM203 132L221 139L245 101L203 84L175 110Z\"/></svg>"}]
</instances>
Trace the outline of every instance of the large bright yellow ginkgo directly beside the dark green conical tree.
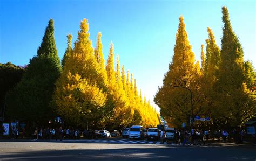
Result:
<instances>
[{"instance_id":1,"label":"large bright yellow ginkgo directly beside the dark green conical tree","mask_svg":"<svg viewBox=\"0 0 256 161\"><path fill-rule=\"evenodd\" d=\"M88 31L87 19L83 19L73 52L56 82L54 96L58 113L82 127L102 123L107 99L104 76L99 73Z\"/></svg>"}]
</instances>

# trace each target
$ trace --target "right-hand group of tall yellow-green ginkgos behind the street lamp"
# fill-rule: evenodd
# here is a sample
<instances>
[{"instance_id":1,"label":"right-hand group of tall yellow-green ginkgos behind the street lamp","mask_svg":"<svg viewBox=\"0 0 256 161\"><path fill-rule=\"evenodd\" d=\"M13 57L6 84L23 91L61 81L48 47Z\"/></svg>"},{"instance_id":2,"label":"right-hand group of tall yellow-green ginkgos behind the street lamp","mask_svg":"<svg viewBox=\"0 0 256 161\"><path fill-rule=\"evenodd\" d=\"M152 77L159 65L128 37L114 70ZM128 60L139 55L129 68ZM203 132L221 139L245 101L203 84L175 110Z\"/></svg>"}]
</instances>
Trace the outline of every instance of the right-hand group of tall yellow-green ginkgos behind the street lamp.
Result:
<instances>
[{"instance_id":1,"label":"right-hand group of tall yellow-green ginkgos behind the street lamp","mask_svg":"<svg viewBox=\"0 0 256 161\"><path fill-rule=\"evenodd\" d=\"M221 48L208 27L206 55L201 45L201 67L195 61L188 41L184 18L179 18L174 55L154 101L160 114L176 127L190 124L195 116L210 117L214 127L241 127L255 117L255 70L250 61L244 61L244 52L233 32L226 7L223 13ZM193 94L191 116L191 95ZM205 122L198 122L202 125Z\"/></svg>"}]
</instances>

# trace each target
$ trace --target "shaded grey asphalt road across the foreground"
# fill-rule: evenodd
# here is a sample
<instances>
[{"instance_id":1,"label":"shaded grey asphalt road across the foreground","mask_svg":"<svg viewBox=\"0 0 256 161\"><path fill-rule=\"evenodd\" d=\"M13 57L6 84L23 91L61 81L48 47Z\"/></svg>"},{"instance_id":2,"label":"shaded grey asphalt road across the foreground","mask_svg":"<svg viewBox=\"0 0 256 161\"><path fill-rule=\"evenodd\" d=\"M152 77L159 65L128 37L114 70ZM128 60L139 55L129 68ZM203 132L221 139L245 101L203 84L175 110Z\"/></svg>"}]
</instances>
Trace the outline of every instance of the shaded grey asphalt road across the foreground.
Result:
<instances>
[{"instance_id":1,"label":"shaded grey asphalt road across the foreground","mask_svg":"<svg viewBox=\"0 0 256 161\"><path fill-rule=\"evenodd\" d=\"M123 142L122 142L123 141ZM0 141L0 160L256 160L256 146L182 146L126 138Z\"/></svg>"}]
</instances>

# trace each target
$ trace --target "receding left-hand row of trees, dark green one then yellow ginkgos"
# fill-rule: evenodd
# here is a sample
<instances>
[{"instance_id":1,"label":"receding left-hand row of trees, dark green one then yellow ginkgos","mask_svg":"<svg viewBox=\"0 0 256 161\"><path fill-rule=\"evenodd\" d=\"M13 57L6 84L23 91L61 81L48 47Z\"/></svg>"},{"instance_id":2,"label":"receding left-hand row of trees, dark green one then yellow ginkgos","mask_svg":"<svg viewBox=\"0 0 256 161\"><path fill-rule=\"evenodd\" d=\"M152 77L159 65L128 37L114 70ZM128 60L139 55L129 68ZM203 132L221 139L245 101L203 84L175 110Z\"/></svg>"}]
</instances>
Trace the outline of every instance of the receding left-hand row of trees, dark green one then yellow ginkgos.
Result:
<instances>
[{"instance_id":1,"label":"receding left-hand row of trees, dark green one then yellow ginkgos","mask_svg":"<svg viewBox=\"0 0 256 161\"><path fill-rule=\"evenodd\" d=\"M89 39L89 25L80 24L74 47L68 47L60 63L54 38L53 20L45 29L37 55L30 59L21 81L6 96L10 118L47 124L55 116L69 125L93 128L122 128L132 124L154 127L159 114L138 92L136 79L116 59L110 45L105 66L101 33L96 47ZM131 78L130 78L131 76Z\"/></svg>"}]
</instances>

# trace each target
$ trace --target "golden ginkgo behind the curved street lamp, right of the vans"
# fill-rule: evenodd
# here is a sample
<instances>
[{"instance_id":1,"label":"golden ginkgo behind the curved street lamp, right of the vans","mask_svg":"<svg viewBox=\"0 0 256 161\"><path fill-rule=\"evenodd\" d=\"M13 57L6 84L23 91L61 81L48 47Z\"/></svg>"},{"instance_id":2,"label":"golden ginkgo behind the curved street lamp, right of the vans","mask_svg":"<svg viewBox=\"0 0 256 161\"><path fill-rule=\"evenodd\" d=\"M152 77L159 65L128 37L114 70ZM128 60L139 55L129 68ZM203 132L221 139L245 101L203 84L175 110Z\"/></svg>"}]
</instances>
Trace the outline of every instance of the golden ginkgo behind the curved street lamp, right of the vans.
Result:
<instances>
[{"instance_id":1,"label":"golden ginkgo behind the curved street lamp, right of the vans","mask_svg":"<svg viewBox=\"0 0 256 161\"><path fill-rule=\"evenodd\" d=\"M181 16L169 71L165 74L164 85L159 87L154 97L154 102L160 107L161 116L177 126L182 122L189 124L190 118L193 117L191 106L194 108L193 115L197 115L200 111L195 101L199 75L200 66L195 62L195 55L185 30L184 18ZM185 88L192 91L192 105L190 91Z\"/></svg>"}]
</instances>

